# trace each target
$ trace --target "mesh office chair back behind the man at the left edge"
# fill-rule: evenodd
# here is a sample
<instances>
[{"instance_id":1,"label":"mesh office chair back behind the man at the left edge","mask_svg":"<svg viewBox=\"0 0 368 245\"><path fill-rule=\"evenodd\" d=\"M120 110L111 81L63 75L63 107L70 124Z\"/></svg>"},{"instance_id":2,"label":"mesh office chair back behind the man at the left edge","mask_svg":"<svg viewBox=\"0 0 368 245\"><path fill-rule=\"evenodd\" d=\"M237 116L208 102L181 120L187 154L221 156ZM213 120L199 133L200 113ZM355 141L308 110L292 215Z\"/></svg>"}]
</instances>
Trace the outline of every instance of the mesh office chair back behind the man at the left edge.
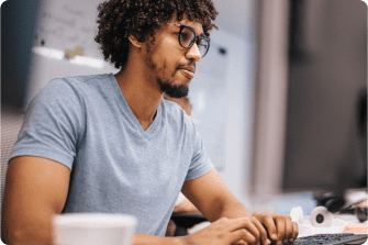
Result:
<instances>
[{"instance_id":1,"label":"mesh office chair back behind the man at the left edge","mask_svg":"<svg viewBox=\"0 0 368 245\"><path fill-rule=\"evenodd\" d=\"M0 227L8 160L22 126L23 118L24 114L11 112L3 107L0 108ZM0 245L3 245L1 232Z\"/></svg>"}]
</instances>

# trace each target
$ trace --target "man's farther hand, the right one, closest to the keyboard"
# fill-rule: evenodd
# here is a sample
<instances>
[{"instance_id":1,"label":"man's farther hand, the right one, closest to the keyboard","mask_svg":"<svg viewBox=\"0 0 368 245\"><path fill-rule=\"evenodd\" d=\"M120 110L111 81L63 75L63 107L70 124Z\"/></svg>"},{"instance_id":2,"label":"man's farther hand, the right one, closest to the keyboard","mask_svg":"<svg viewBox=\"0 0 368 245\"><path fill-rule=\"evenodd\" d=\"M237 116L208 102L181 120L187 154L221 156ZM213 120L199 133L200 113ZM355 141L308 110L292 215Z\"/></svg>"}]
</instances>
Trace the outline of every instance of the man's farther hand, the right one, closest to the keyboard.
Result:
<instances>
[{"instance_id":1,"label":"man's farther hand, the right one, closest to the keyboard","mask_svg":"<svg viewBox=\"0 0 368 245\"><path fill-rule=\"evenodd\" d=\"M298 224L291 221L289 215L279 215L275 213L257 213L252 214L256 218L268 232L268 237L277 242L277 245L293 243L298 236Z\"/></svg>"}]
</instances>

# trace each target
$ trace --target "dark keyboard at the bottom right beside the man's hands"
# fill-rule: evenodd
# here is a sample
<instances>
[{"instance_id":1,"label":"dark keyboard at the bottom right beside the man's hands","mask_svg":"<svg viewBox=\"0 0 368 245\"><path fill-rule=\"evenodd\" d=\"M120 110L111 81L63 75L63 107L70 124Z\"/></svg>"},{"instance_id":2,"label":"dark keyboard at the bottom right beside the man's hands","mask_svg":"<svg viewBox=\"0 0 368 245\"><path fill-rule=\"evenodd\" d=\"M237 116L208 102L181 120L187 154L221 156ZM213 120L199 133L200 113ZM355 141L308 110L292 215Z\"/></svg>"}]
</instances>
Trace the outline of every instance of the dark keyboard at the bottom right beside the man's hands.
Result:
<instances>
[{"instance_id":1,"label":"dark keyboard at the bottom right beside the man's hands","mask_svg":"<svg viewBox=\"0 0 368 245\"><path fill-rule=\"evenodd\" d=\"M292 244L298 245L328 245L328 244L363 244L367 241L368 234L337 233L337 234L317 234L295 238ZM272 243L274 244L274 243ZM276 244L276 243L275 243ZM291 243L289 243L291 245Z\"/></svg>"}]
</instances>

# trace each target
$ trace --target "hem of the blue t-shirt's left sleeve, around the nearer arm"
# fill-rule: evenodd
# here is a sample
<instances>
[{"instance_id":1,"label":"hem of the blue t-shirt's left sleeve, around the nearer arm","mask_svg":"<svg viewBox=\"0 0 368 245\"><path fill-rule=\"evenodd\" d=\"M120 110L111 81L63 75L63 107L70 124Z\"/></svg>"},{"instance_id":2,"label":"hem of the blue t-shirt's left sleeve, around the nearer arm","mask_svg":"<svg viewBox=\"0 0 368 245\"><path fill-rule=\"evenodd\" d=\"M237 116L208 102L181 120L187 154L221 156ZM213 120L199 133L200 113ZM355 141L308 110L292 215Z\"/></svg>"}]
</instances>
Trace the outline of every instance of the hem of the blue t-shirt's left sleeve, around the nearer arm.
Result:
<instances>
[{"instance_id":1,"label":"hem of the blue t-shirt's left sleeve, around the nearer arm","mask_svg":"<svg viewBox=\"0 0 368 245\"><path fill-rule=\"evenodd\" d=\"M58 153L49 152L49 151L37 151L37 152L35 152L34 149L33 151L32 149L14 151L11 154L9 160L11 160L12 158L19 157L19 156L35 156L35 157L42 157L42 158L51 159L51 160L57 162L57 163L66 166L70 170L71 170L71 165L73 165L73 160L74 160L71 156L65 156L63 154L58 154Z\"/></svg>"}]
</instances>

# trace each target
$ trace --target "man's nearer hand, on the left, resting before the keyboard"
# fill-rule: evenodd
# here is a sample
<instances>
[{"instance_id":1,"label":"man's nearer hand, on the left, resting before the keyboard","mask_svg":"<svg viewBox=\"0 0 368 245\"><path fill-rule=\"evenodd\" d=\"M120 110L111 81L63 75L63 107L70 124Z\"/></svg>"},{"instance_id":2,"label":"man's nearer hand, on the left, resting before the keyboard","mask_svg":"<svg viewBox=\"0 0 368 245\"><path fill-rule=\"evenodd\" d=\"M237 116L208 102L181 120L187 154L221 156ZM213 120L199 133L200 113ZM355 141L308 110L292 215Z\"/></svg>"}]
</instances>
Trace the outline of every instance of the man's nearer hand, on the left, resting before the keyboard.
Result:
<instances>
[{"instance_id":1,"label":"man's nearer hand, on the left, resting before the keyboard","mask_svg":"<svg viewBox=\"0 0 368 245\"><path fill-rule=\"evenodd\" d=\"M267 244L267 233L261 223L255 218L227 219L221 218L208 227L182 237L185 245L231 245L231 244Z\"/></svg>"}]
</instances>

